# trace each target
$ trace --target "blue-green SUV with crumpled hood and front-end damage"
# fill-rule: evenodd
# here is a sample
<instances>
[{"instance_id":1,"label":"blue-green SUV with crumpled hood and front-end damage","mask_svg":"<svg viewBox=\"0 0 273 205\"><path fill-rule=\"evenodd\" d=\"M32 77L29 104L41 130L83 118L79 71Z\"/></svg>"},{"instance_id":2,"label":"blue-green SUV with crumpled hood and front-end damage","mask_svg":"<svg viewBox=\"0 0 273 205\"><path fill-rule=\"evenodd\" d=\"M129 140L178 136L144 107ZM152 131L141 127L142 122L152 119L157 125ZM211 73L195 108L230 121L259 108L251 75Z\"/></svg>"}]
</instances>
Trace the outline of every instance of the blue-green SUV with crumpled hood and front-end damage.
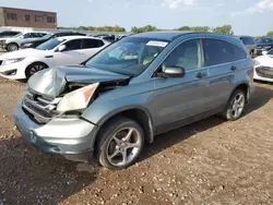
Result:
<instances>
[{"instance_id":1,"label":"blue-green SUV with crumpled hood and front-end damage","mask_svg":"<svg viewBox=\"0 0 273 205\"><path fill-rule=\"evenodd\" d=\"M81 65L33 75L15 124L45 152L123 169L157 134L218 113L240 118L252 79L253 61L236 37L143 33Z\"/></svg>"}]
</instances>

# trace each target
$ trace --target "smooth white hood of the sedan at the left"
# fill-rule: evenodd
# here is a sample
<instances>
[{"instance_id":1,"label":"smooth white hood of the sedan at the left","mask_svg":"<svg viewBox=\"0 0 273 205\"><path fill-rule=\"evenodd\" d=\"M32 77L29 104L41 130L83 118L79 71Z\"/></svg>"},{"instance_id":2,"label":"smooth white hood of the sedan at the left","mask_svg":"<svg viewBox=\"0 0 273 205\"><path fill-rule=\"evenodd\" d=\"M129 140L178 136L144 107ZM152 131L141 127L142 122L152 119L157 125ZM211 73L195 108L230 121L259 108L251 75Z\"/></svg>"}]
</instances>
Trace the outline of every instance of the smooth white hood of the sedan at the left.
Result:
<instances>
[{"instance_id":1,"label":"smooth white hood of the sedan at the left","mask_svg":"<svg viewBox=\"0 0 273 205\"><path fill-rule=\"evenodd\" d=\"M5 55L2 55L1 59L16 59L16 58L26 58L26 57L33 57L33 56L43 56L50 51L47 50L37 50L37 49L23 49L23 50L16 50L13 52L8 52Z\"/></svg>"}]
</instances>

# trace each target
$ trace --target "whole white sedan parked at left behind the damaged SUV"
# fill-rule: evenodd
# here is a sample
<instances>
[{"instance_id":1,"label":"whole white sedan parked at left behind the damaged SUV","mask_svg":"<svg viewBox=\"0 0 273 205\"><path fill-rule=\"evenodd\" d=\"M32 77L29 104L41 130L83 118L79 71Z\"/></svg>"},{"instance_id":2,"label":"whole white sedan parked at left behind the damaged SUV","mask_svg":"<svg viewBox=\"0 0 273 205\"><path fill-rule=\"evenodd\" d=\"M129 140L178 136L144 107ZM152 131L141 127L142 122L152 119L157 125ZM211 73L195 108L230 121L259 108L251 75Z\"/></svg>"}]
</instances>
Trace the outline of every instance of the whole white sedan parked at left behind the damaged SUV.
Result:
<instances>
[{"instance_id":1,"label":"whole white sedan parked at left behind the damaged SUV","mask_svg":"<svg viewBox=\"0 0 273 205\"><path fill-rule=\"evenodd\" d=\"M36 49L22 49L0 56L0 75L27 80L49 67L80 64L109 43L87 36L52 38Z\"/></svg>"}]
</instances>

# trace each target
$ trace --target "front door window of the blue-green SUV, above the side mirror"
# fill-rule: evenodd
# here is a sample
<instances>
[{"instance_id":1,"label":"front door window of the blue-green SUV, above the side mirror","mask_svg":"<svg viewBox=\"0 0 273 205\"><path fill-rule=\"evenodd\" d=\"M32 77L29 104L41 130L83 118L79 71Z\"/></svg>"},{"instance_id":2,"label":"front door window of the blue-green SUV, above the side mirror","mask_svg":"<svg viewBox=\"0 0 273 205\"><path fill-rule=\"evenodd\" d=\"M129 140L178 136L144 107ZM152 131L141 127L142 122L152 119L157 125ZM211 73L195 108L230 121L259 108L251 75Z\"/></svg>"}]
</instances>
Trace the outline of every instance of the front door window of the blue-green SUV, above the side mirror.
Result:
<instances>
[{"instance_id":1,"label":"front door window of the blue-green SUV, above the side mirror","mask_svg":"<svg viewBox=\"0 0 273 205\"><path fill-rule=\"evenodd\" d=\"M164 68L179 67L186 71L203 67L203 51L201 39L192 39L180 44L163 62Z\"/></svg>"}]
</instances>

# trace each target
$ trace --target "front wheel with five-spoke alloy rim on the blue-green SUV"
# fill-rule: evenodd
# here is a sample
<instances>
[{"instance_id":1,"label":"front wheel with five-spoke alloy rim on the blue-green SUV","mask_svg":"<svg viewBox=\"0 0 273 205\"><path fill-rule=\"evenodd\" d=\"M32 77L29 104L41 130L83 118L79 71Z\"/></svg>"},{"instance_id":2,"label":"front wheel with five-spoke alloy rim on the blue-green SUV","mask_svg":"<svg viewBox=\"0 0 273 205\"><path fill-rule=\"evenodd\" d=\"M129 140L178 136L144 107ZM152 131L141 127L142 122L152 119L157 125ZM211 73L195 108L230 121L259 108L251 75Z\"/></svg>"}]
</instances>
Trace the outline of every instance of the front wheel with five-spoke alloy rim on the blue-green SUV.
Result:
<instances>
[{"instance_id":1,"label":"front wheel with five-spoke alloy rim on the blue-green SUV","mask_svg":"<svg viewBox=\"0 0 273 205\"><path fill-rule=\"evenodd\" d=\"M110 170L126 169L135 162L144 146L143 129L133 120L111 120L98 135L99 164Z\"/></svg>"}]
</instances>

